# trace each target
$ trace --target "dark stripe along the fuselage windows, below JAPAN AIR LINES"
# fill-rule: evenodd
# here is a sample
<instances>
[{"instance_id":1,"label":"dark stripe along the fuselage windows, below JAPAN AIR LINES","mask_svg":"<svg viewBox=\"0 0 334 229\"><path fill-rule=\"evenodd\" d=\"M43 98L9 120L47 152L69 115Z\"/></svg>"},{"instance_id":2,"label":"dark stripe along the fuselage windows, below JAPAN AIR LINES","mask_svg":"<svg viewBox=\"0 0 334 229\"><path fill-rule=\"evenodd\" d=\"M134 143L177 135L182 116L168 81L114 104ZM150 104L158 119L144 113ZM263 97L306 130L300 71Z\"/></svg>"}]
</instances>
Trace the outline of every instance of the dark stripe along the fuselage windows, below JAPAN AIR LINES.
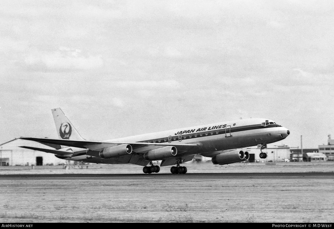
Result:
<instances>
[{"instance_id":1,"label":"dark stripe along the fuselage windows, below JAPAN AIR LINES","mask_svg":"<svg viewBox=\"0 0 334 229\"><path fill-rule=\"evenodd\" d=\"M271 127L280 127L280 125L277 124L270 124L268 126L262 126L261 124L256 124L256 125L249 125L249 126L239 126L239 127L231 127L230 128L230 133L235 133L235 132L239 132L239 131L245 131L245 130L256 130L256 129L264 129L264 128L271 128ZM218 134L216 133L218 129L214 129L214 130L208 130L208 131L202 131L202 132L197 132L197 133L191 133L192 137L191 138L199 138L199 137L207 137L207 136L212 136L212 135L218 135L218 134L225 134L226 132L226 128L224 129L219 129L218 130ZM211 131L213 131L213 134L211 135ZM205 135L205 133L208 133L207 135ZM200 134L202 133L202 136L200 136ZM195 137L194 135L197 134L197 137ZM190 139L189 134L182 134L182 139ZM172 142L173 141L178 141L179 135L177 136L172 136ZM184 138L184 136L186 136L186 138ZM175 137L175 140L174 140ZM166 138L166 141L165 141ZM139 142L151 142L153 143L153 141L155 140L155 143L165 143L168 142L168 137L162 137L162 138L155 138L155 139L151 139L151 140L145 140L145 141L139 141ZM159 139L161 139L161 141L159 142Z\"/></svg>"}]
</instances>

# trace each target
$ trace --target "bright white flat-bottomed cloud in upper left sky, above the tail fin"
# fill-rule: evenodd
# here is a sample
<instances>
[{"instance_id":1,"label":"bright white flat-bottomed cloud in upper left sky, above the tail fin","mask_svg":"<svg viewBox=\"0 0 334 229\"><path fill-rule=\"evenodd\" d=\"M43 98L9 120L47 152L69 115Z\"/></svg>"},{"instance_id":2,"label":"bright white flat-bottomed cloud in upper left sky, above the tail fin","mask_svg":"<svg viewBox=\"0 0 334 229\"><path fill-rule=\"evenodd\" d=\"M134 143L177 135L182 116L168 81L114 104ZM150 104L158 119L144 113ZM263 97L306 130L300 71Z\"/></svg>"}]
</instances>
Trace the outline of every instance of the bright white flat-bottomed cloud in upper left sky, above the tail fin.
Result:
<instances>
[{"instance_id":1,"label":"bright white flat-bottomed cloud in upper left sky, above the tail fin","mask_svg":"<svg viewBox=\"0 0 334 229\"><path fill-rule=\"evenodd\" d=\"M100 56L84 56L80 49L59 47L57 51L40 54L38 52L26 56L24 63L27 67L48 70L89 70L103 66Z\"/></svg>"}]
</instances>

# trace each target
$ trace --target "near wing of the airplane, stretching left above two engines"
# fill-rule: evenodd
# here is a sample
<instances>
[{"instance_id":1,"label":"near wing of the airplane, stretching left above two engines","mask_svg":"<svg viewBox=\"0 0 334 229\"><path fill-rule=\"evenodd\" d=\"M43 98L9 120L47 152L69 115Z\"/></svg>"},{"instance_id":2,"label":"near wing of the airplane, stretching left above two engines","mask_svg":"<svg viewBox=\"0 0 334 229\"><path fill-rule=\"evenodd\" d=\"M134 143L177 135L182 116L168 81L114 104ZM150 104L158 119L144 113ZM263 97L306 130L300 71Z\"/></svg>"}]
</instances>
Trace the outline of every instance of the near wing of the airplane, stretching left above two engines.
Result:
<instances>
[{"instance_id":1,"label":"near wing of the airplane, stretching left above two engines","mask_svg":"<svg viewBox=\"0 0 334 229\"><path fill-rule=\"evenodd\" d=\"M200 143L196 144L173 144L173 143L149 143L149 142L109 142L109 141L73 141L73 140L61 140L61 139L49 139L49 138L30 138L30 137L21 137L24 140L37 141L40 143L50 143L58 145L66 145L78 148L87 148L90 150L100 150L106 147L111 147L120 144L129 144L132 146L133 150L141 153L144 151L149 151L151 149L156 149L164 146L175 146L178 151L188 151L193 149L196 146L199 146Z\"/></svg>"}]
</instances>

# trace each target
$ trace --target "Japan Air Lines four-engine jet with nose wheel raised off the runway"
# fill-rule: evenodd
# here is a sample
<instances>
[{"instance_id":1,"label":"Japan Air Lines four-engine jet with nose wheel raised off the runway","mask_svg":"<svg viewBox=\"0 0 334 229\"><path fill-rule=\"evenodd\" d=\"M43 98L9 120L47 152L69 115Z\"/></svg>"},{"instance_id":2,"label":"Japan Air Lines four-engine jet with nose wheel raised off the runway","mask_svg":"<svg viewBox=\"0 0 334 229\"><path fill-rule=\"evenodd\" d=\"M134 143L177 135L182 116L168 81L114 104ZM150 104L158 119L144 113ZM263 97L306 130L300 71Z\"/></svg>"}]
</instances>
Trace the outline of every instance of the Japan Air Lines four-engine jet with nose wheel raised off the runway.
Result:
<instances>
[{"instance_id":1,"label":"Japan Air Lines four-engine jet with nose wheel raised off the runway","mask_svg":"<svg viewBox=\"0 0 334 229\"><path fill-rule=\"evenodd\" d=\"M83 139L60 108L51 109L59 139L21 137L55 149L29 146L23 148L54 153L56 157L89 163L131 163L142 165L145 174L158 173L160 166L172 166L172 174L185 174L180 164L192 160L195 154L211 157L213 164L230 164L249 159L249 153L232 150L249 146L260 148L260 158L267 144L285 139L290 131L276 122L263 118L248 118L219 122L156 133L117 138L106 141ZM154 165L153 161L160 161ZM150 166L147 166L150 164Z\"/></svg>"}]
</instances>

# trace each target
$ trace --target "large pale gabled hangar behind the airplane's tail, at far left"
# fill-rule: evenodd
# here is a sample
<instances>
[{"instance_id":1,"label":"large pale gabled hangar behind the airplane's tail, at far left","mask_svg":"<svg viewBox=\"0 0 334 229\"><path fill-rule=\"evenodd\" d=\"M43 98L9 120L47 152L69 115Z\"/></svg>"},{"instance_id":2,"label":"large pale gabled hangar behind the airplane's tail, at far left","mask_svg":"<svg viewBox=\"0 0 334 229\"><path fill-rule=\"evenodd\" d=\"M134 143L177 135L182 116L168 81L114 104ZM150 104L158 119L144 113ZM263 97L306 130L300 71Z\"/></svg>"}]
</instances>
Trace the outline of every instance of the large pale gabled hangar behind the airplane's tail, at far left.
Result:
<instances>
[{"instance_id":1,"label":"large pale gabled hangar behind the airplane's tail, at far left","mask_svg":"<svg viewBox=\"0 0 334 229\"><path fill-rule=\"evenodd\" d=\"M58 165L67 161L57 158L53 153L45 153L19 146L55 149L57 145L44 145L34 141L13 139L0 145L0 166L13 165ZM67 163L68 164L68 163Z\"/></svg>"}]
</instances>

